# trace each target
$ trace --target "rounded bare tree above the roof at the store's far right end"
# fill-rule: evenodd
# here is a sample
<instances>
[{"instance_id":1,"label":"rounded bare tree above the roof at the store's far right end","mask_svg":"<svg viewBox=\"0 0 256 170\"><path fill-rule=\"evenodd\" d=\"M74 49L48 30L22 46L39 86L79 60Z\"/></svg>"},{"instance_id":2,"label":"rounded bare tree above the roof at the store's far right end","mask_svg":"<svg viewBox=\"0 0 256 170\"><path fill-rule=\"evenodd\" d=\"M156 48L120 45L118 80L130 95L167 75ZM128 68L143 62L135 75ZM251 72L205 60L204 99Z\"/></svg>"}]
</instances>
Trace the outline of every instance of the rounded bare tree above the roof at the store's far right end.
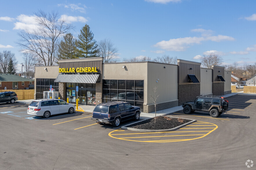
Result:
<instances>
[{"instance_id":1,"label":"rounded bare tree above the roof at the store's far right end","mask_svg":"<svg viewBox=\"0 0 256 170\"><path fill-rule=\"evenodd\" d=\"M220 65L222 62L222 57L219 54L210 53L208 55L203 55L200 58L202 66L211 69L212 65Z\"/></svg>"}]
</instances>

